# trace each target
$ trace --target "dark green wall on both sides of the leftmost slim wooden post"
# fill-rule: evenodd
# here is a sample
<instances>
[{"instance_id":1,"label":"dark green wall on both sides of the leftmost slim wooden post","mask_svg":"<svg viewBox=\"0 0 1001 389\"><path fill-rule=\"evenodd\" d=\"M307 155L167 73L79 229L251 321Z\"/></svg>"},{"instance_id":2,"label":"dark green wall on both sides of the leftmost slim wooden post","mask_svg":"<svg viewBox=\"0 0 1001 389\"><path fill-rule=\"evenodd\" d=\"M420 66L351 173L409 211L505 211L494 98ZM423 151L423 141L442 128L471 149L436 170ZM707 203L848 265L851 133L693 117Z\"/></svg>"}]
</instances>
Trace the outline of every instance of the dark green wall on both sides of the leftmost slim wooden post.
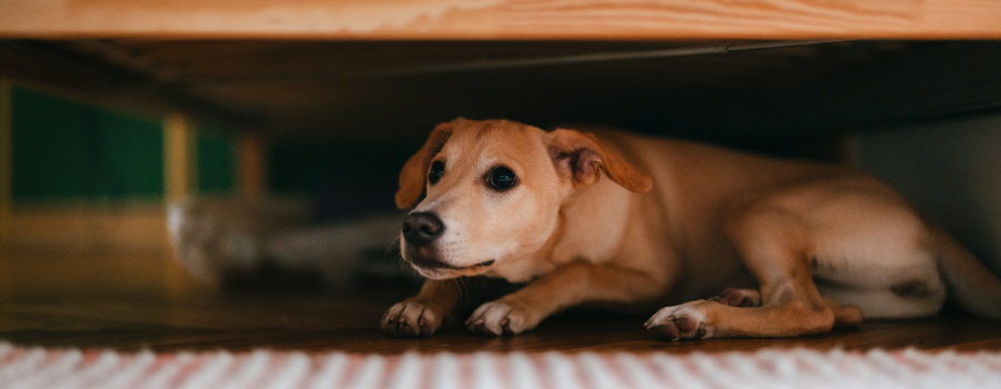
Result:
<instances>
[{"instance_id":1,"label":"dark green wall on both sides of the leftmost slim wooden post","mask_svg":"<svg viewBox=\"0 0 1001 389\"><path fill-rule=\"evenodd\" d=\"M14 88L14 201L161 200L163 131L141 118ZM197 138L199 192L230 192L232 140L216 129Z\"/></svg>"}]
</instances>

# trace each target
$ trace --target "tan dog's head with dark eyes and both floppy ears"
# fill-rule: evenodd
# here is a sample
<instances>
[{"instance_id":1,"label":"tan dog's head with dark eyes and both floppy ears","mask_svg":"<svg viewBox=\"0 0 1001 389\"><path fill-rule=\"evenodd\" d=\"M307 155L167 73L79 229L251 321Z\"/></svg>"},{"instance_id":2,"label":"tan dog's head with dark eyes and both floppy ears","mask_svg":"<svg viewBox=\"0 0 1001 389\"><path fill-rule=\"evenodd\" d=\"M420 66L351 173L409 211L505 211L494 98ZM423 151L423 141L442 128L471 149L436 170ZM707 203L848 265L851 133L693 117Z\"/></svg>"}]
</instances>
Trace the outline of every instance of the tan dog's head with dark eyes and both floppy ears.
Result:
<instances>
[{"instance_id":1,"label":"tan dog's head with dark eyes and both floppy ears","mask_svg":"<svg viewBox=\"0 0 1001 389\"><path fill-rule=\"evenodd\" d=\"M507 120L442 123L399 176L396 203L414 207L400 251L432 279L529 257L556 229L564 199L602 174L635 192L651 187L587 133Z\"/></svg>"}]
</instances>

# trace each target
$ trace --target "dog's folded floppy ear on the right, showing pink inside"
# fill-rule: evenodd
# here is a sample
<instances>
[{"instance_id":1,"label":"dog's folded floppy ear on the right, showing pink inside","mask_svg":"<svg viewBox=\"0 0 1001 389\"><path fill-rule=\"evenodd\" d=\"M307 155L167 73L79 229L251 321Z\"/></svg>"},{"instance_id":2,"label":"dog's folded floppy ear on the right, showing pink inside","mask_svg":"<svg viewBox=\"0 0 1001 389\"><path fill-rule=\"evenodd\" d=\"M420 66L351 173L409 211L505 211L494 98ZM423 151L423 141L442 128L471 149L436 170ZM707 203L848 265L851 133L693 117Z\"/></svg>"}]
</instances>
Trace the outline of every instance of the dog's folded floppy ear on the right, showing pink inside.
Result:
<instances>
[{"instance_id":1,"label":"dog's folded floppy ear on the right, showing pink inside","mask_svg":"<svg viewBox=\"0 0 1001 389\"><path fill-rule=\"evenodd\" d=\"M631 191L643 193L653 186L650 177L606 150L591 133L558 129L545 134L546 148L556 170L573 179L574 188L597 182L598 170Z\"/></svg>"}]
</instances>

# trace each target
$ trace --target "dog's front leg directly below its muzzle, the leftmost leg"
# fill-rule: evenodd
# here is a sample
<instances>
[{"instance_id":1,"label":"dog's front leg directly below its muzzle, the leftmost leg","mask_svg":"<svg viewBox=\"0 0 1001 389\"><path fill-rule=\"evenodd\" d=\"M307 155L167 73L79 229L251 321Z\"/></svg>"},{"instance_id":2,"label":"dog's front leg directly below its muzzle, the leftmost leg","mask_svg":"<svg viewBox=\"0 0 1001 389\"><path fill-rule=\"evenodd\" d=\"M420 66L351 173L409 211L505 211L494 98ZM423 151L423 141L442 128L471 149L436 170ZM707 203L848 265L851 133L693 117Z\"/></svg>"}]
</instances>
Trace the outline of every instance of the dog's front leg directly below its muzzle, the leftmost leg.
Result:
<instances>
[{"instance_id":1,"label":"dog's front leg directly below its muzzle, the leftmost leg","mask_svg":"<svg viewBox=\"0 0 1001 389\"><path fill-rule=\"evenodd\" d=\"M383 315L383 332L390 337L429 337L455 308L462 290L456 280L427 280L420 292L397 302Z\"/></svg>"}]
</instances>

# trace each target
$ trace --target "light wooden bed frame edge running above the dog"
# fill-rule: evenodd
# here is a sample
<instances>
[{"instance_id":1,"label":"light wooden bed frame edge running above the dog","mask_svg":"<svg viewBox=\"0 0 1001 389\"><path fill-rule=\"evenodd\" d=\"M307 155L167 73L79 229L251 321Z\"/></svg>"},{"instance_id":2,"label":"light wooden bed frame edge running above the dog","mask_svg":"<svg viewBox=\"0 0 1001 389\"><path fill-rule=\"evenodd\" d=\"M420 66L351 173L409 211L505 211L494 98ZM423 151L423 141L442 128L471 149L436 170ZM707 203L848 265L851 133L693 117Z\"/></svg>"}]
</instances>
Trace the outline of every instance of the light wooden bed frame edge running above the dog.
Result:
<instances>
[{"instance_id":1,"label":"light wooden bed frame edge running above the dog","mask_svg":"<svg viewBox=\"0 0 1001 389\"><path fill-rule=\"evenodd\" d=\"M4 0L7 38L1001 38L993 0Z\"/></svg>"}]
</instances>

